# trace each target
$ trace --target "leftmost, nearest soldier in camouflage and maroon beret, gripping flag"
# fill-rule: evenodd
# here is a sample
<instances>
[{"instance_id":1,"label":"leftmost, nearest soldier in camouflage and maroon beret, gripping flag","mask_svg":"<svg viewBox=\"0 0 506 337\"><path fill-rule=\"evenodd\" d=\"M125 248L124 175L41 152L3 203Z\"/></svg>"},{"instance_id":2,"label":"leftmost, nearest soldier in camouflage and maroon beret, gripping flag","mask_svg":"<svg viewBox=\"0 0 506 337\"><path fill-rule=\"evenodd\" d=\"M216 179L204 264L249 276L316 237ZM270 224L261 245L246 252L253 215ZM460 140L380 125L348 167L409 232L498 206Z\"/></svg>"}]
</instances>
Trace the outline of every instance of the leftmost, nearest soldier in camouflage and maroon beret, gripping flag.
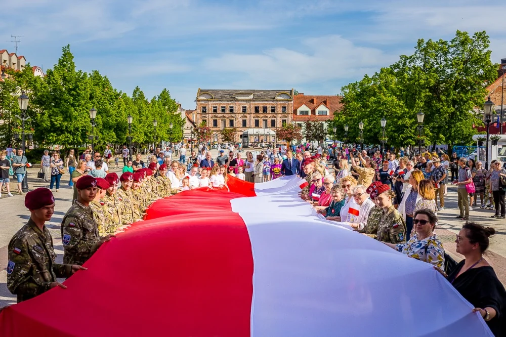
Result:
<instances>
[{"instance_id":1,"label":"leftmost, nearest soldier in camouflage and maroon beret, gripping flag","mask_svg":"<svg viewBox=\"0 0 506 337\"><path fill-rule=\"evenodd\" d=\"M17 302L35 296L56 286L57 277L70 277L79 269L77 265L55 263L53 238L45 226L55 209L53 193L37 188L26 193L25 206L30 210L28 223L14 234L8 246L7 287Z\"/></svg>"}]
</instances>

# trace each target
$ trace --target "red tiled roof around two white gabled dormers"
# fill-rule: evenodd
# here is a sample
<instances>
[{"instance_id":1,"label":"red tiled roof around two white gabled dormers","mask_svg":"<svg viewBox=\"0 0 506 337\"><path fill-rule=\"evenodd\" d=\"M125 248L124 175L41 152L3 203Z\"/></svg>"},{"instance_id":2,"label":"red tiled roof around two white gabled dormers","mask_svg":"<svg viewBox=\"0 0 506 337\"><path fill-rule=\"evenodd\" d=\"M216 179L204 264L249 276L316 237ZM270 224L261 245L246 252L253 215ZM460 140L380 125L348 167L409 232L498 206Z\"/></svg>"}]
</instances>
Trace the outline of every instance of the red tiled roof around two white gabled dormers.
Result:
<instances>
[{"instance_id":1,"label":"red tiled roof around two white gabled dormers","mask_svg":"<svg viewBox=\"0 0 506 337\"><path fill-rule=\"evenodd\" d=\"M334 118L335 111L341 111L343 109L344 104L341 103L342 96L315 96L315 95L304 95L299 93L299 95L293 96L293 120L307 120L307 119L316 119L316 120L328 120ZM297 109L302 105L306 105L311 109L311 114L309 116L298 116ZM316 115L316 109L321 105L325 105L330 110L330 115L328 116L318 116Z\"/></svg>"}]
</instances>

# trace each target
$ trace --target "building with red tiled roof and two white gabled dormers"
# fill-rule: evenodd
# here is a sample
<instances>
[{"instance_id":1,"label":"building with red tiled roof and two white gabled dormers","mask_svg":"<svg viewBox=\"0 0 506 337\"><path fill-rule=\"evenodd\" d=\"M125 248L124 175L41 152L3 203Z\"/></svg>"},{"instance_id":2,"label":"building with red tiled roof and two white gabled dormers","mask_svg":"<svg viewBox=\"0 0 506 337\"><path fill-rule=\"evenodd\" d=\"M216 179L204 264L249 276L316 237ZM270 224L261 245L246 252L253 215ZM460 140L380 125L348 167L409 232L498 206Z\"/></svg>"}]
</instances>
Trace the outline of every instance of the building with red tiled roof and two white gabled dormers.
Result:
<instances>
[{"instance_id":1,"label":"building with red tiled roof and two white gabled dormers","mask_svg":"<svg viewBox=\"0 0 506 337\"><path fill-rule=\"evenodd\" d=\"M302 127L306 120L318 120L323 123L323 128L328 134L328 121L334 119L334 113L340 112L344 104L342 96L316 96L299 93L293 97L292 123ZM305 141L305 139L303 139Z\"/></svg>"}]
</instances>

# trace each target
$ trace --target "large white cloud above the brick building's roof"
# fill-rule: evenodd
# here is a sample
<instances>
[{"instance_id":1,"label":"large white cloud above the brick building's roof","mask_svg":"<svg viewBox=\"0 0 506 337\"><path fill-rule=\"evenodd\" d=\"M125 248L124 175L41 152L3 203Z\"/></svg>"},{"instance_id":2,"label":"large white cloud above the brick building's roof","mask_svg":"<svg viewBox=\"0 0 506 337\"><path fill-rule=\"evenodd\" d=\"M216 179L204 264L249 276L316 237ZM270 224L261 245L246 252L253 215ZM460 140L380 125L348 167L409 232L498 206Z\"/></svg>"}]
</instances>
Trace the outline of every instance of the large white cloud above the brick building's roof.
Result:
<instances>
[{"instance_id":1,"label":"large white cloud above the brick building's roof","mask_svg":"<svg viewBox=\"0 0 506 337\"><path fill-rule=\"evenodd\" d=\"M303 51L274 48L262 54L231 54L204 60L207 71L243 73L244 81L298 85L361 77L379 67L395 62L397 55L387 55L379 49L354 45L339 35L309 38L303 41Z\"/></svg>"}]
</instances>

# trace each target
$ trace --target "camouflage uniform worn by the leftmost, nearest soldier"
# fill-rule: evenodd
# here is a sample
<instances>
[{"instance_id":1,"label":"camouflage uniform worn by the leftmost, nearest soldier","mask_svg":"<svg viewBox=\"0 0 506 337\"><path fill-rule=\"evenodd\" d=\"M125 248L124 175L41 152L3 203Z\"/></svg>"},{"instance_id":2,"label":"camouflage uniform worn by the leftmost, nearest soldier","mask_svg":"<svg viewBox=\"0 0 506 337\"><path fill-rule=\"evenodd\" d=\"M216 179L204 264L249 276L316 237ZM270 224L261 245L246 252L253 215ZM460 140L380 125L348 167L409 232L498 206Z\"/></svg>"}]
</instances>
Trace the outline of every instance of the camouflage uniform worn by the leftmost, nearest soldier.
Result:
<instances>
[{"instance_id":1,"label":"camouflage uniform worn by the leftmost, nearest soldier","mask_svg":"<svg viewBox=\"0 0 506 337\"><path fill-rule=\"evenodd\" d=\"M8 247L7 287L22 302L49 290L57 277L70 277L71 265L55 263L53 238L29 219L14 234Z\"/></svg>"}]
</instances>

